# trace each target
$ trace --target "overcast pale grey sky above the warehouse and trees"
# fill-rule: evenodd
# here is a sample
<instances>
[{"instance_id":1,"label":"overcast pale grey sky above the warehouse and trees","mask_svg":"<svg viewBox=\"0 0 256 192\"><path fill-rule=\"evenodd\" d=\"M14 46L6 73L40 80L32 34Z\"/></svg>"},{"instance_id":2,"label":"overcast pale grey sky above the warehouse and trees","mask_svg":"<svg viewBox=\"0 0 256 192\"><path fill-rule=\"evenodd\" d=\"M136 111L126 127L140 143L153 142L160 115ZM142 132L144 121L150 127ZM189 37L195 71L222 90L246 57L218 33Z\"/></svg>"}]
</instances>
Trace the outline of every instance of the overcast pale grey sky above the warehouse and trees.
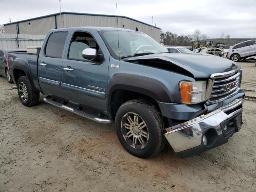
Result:
<instances>
[{"instance_id":1,"label":"overcast pale grey sky above the warehouse and trees","mask_svg":"<svg viewBox=\"0 0 256 192\"><path fill-rule=\"evenodd\" d=\"M192 34L196 28L211 38L256 38L256 0L61 0L61 10L128 16L164 32ZM0 24L53 14L58 0L0 0Z\"/></svg>"}]
</instances>

